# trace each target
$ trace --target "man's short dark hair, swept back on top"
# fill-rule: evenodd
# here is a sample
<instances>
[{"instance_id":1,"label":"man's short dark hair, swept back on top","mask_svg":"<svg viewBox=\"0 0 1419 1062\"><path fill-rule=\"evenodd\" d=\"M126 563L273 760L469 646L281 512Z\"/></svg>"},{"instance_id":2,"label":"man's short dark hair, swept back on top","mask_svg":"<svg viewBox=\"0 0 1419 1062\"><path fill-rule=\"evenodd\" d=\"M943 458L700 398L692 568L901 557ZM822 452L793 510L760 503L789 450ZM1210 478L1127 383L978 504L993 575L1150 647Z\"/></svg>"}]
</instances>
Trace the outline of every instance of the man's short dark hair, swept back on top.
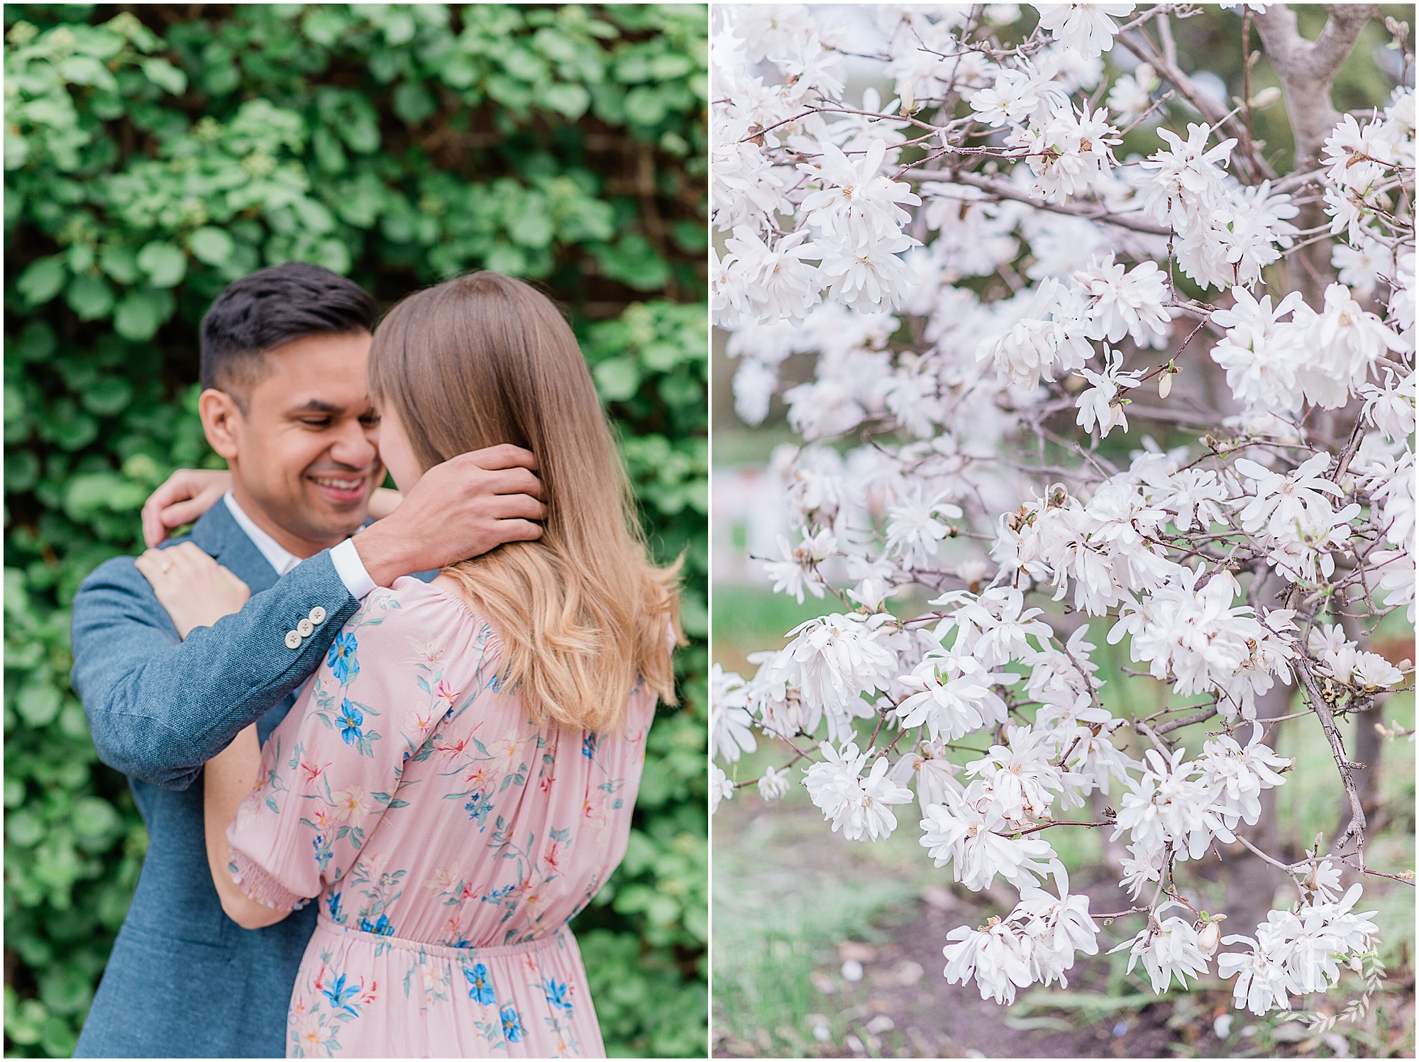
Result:
<instances>
[{"instance_id":1,"label":"man's short dark hair, swept back on top","mask_svg":"<svg viewBox=\"0 0 1419 1062\"><path fill-rule=\"evenodd\" d=\"M319 266L292 261L248 273L201 318L201 386L250 386L267 351L305 335L369 332L375 315L365 288Z\"/></svg>"}]
</instances>

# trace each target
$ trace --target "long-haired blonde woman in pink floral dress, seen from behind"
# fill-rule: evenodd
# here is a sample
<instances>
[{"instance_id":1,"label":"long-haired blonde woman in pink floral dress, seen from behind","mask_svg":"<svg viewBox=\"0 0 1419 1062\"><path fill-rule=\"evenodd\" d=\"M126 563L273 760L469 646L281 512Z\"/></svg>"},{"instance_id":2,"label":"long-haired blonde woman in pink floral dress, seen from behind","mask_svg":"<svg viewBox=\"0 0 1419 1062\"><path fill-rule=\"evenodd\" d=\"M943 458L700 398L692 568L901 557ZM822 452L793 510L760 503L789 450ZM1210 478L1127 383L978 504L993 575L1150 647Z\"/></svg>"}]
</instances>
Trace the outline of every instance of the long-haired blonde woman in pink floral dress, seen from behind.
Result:
<instances>
[{"instance_id":1,"label":"long-haired blonde woman in pink floral dress, seen from behind","mask_svg":"<svg viewBox=\"0 0 1419 1062\"><path fill-rule=\"evenodd\" d=\"M674 699L675 572L647 562L582 354L526 284L406 298L369 372L400 490L517 443L546 530L372 593L265 747L251 728L207 764L213 880L247 929L319 903L291 1056L602 1055L566 921L624 855Z\"/></svg>"}]
</instances>

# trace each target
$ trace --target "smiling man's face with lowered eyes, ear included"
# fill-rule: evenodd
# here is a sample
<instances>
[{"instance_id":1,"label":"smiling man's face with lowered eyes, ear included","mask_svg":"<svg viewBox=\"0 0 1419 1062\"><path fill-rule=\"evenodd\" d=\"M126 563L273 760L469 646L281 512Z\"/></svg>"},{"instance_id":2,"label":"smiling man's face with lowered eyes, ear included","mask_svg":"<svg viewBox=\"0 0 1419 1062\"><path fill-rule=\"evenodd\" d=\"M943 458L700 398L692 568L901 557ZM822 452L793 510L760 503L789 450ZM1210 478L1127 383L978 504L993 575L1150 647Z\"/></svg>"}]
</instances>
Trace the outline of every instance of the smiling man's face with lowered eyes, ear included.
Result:
<instances>
[{"instance_id":1,"label":"smiling man's face with lowered eyes, ear included","mask_svg":"<svg viewBox=\"0 0 1419 1062\"><path fill-rule=\"evenodd\" d=\"M369 345L369 332L284 344L265 355L258 381L245 388L245 410L233 403L224 423L207 425L243 508L250 500L288 535L316 548L365 522L369 497L385 478L379 417L365 392Z\"/></svg>"}]
</instances>

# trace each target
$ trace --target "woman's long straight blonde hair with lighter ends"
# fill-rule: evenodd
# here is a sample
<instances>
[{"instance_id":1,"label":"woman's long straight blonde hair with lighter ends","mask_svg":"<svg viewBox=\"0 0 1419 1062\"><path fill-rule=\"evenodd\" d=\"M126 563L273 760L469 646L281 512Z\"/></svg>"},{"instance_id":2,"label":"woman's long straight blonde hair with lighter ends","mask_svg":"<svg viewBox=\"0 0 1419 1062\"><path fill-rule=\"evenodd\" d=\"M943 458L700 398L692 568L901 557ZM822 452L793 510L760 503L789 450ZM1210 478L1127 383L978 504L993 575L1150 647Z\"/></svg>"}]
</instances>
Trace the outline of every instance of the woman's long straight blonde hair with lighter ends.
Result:
<instances>
[{"instance_id":1,"label":"woman's long straight blonde hair with lighter ends","mask_svg":"<svg viewBox=\"0 0 1419 1062\"><path fill-rule=\"evenodd\" d=\"M680 562L646 557L590 372L551 300L497 273L413 294L375 331L369 385L424 469L498 443L536 456L542 538L444 569L502 639L499 672L532 718L619 730L637 676L673 704Z\"/></svg>"}]
</instances>

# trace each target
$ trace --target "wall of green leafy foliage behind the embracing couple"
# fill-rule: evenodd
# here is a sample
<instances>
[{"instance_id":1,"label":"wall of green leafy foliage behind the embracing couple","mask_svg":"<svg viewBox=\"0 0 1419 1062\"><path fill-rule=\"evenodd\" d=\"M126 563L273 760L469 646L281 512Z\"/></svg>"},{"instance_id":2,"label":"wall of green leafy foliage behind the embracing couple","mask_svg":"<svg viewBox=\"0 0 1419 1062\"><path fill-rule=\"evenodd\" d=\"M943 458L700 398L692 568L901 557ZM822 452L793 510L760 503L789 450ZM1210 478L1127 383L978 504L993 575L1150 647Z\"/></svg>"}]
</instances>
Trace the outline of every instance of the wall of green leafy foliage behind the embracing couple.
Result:
<instances>
[{"instance_id":1,"label":"wall of green leafy foliage behind the embracing couple","mask_svg":"<svg viewBox=\"0 0 1419 1062\"><path fill-rule=\"evenodd\" d=\"M7 4L4 1031L67 1056L146 846L68 686L70 602L216 466L197 322L299 260L382 307L471 268L569 311L660 557L687 551L683 707L576 923L613 1055L705 1049L707 11Z\"/></svg>"}]
</instances>

